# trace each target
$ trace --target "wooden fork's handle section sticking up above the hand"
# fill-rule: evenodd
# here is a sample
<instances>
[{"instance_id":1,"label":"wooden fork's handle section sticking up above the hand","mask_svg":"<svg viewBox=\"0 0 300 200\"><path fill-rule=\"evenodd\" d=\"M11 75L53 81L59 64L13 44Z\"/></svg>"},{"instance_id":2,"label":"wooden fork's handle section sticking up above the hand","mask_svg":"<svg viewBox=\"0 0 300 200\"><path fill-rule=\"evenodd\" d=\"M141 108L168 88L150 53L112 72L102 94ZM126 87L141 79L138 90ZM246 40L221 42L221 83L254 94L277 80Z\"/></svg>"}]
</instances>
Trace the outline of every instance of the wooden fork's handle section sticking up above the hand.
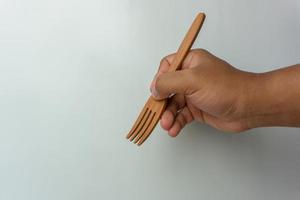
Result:
<instances>
[{"instance_id":1,"label":"wooden fork's handle section sticking up above the hand","mask_svg":"<svg viewBox=\"0 0 300 200\"><path fill-rule=\"evenodd\" d=\"M174 61L171 63L171 66L169 68L169 72L180 69L182 62L184 61L192 45L194 44L194 41L202 27L204 19L204 13L199 13L194 19L189 31L186 33L183 41L179 46L179 49L177 50Z\"/></svg>"}]
</instances>

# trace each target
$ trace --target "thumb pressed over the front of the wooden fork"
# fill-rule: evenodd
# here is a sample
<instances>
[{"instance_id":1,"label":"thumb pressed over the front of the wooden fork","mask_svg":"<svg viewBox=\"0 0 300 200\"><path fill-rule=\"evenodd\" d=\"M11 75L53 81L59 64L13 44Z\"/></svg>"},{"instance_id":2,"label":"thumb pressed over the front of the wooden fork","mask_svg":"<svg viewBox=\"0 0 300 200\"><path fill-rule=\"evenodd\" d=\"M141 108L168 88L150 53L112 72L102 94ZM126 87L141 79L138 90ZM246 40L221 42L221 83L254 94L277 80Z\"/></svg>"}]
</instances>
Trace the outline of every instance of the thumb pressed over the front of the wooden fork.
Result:
<instances>
[{"instance_id":1,"label":"thumb pressed over the front of the wooden fork","mask_svg":"<svg viewBox=\"0 0 300 200\"><path fill-rule=\"evenodd\" d=\"M187 94L193 87L189 69L158 75L151 86L155 99L165 99L172 94Z\"/></svg>"}]
</instances>

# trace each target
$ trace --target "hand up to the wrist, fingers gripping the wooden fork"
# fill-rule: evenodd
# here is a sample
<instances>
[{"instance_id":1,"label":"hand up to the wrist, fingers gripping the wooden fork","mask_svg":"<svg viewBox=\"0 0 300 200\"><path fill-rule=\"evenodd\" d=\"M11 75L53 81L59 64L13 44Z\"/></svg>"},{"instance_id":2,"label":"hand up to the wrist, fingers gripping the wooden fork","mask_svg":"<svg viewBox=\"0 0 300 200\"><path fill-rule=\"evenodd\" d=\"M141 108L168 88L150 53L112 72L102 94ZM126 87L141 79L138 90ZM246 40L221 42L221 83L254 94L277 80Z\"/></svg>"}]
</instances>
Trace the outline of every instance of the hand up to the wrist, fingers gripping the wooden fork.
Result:
<instances>
[{"instance_id":1,"label":"hand up to the wrist, fingers gripping the wooden fork","mask_svg":"<svg viewBox=\"0 0 300 200\"><path fill-rule=\"evenodd\" d=\"M240 71L206 50L192 50L182 69L168 72L175 54L162 59L150 90L156 99L168 99L161 127L177 136L193 120L217 129L249 129L247 90L256 74Z\"/></svg>"}]
</instances>

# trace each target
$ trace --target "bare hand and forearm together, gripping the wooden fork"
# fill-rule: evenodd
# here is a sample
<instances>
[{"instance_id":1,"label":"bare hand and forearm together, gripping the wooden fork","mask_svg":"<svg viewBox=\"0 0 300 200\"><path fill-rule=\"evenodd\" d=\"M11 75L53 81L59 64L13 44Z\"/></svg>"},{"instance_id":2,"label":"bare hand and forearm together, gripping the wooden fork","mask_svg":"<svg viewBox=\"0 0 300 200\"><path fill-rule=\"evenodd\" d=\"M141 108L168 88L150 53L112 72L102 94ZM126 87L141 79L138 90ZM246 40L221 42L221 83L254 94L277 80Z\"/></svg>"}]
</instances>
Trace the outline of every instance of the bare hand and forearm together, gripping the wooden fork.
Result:
<instances>
[{"instance_id":1,"label":"bare hand and forearm together, gripping the wooden fork","mask_svg":"<svg viewBox=\"0 0 300 200\"><path fill-rule=\"evenodd\" d=\"M161 127L177 136L194 120L225 132L256 127L300 127L300 64L267 73L241 71L206 50L190 51L182 69L161 60L150 90L168 98Z\"/></svg>"}]
</instances>

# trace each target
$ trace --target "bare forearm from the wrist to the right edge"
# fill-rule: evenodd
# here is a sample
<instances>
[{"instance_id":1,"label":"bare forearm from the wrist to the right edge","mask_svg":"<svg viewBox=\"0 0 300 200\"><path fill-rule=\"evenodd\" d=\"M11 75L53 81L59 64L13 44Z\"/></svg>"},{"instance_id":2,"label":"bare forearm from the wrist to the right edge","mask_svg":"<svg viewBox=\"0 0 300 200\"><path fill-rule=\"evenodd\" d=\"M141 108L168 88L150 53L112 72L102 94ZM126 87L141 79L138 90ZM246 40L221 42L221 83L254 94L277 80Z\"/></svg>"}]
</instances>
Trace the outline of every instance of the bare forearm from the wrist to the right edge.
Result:
<instances>
[{"instance_id":1,"label":"bare forearm from the wrist to the right edge","mask_svg":"<svg viewBox=\"0 0 300 200\"><path fill-rule=\"evenodd\" d=\"M300 127L300 64L256 74L248 90L249 127Z\"/></svg>"}]
</instances>

